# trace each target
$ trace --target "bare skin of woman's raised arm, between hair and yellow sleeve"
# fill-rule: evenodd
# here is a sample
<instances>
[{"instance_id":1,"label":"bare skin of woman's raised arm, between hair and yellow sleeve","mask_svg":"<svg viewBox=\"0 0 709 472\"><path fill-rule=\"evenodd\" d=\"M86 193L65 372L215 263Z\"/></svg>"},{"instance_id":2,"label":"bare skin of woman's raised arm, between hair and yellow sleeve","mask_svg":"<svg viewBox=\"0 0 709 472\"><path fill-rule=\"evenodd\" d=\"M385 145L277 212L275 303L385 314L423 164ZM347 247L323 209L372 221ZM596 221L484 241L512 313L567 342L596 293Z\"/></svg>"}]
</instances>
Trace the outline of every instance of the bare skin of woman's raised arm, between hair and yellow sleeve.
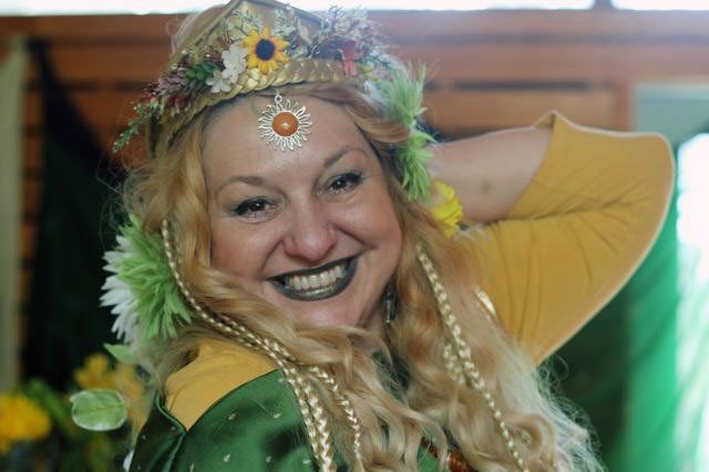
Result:
<instances>
[{"instance_id":1,"label":"bare skin of woman's raised arm, between hair and yellow sleeve","mask_svg":"<svg viewBox=\"0 0 709 472\"><path fill-rule=\"evenodd\" d=\"M548 129L521 127L436 144L429 171L455 188L466 218L494 222L524 193L551 135Z\"/></svg>"}]
</instances>

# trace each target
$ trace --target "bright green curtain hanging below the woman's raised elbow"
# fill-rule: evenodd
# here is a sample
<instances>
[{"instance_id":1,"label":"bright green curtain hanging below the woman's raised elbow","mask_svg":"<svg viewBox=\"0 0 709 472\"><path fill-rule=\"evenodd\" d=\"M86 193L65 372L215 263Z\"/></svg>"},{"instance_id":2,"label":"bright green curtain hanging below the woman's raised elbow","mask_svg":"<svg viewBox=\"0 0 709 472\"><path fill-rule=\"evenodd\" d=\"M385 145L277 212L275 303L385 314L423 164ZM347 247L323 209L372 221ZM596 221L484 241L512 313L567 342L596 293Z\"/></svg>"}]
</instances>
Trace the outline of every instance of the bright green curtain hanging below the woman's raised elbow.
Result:
<instances>
[{"instance_id":1,"label":"bright green curtain hanging below the woman's raised elbow","mask_svg":"<svg viewBox=\"0 0 709 472\"><path fill-rule=\"evenodd\" d=\"M676 470L675 203L635 276L554 360L563 390L588 413L610 471Z\"/></svg>"}]
</instances>

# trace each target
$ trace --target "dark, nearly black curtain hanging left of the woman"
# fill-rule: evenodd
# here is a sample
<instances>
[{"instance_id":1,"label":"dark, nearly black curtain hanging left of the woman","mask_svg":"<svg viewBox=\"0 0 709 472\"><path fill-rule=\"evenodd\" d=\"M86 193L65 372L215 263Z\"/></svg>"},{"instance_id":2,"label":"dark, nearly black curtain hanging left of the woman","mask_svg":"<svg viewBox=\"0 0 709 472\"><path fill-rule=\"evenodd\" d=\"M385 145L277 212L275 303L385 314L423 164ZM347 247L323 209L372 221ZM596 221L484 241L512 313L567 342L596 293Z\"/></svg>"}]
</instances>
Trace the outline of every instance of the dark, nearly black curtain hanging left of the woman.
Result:
<instances>
[{"instance_id":1,"label":"dark, nearly black curtain hanging left of the woman","mask_svg":"<svg viewBox=\"0 0 709 472\"><path fill-rule=\"evenodd\" d=\"M111 340L112 316L99 307L105 234L101 215L112 195L102 148L68 100L45 47L33 44L43 98L42 201L28 337L25 377L64 388L86 355Z\"/></svg>"}]
</instances>

